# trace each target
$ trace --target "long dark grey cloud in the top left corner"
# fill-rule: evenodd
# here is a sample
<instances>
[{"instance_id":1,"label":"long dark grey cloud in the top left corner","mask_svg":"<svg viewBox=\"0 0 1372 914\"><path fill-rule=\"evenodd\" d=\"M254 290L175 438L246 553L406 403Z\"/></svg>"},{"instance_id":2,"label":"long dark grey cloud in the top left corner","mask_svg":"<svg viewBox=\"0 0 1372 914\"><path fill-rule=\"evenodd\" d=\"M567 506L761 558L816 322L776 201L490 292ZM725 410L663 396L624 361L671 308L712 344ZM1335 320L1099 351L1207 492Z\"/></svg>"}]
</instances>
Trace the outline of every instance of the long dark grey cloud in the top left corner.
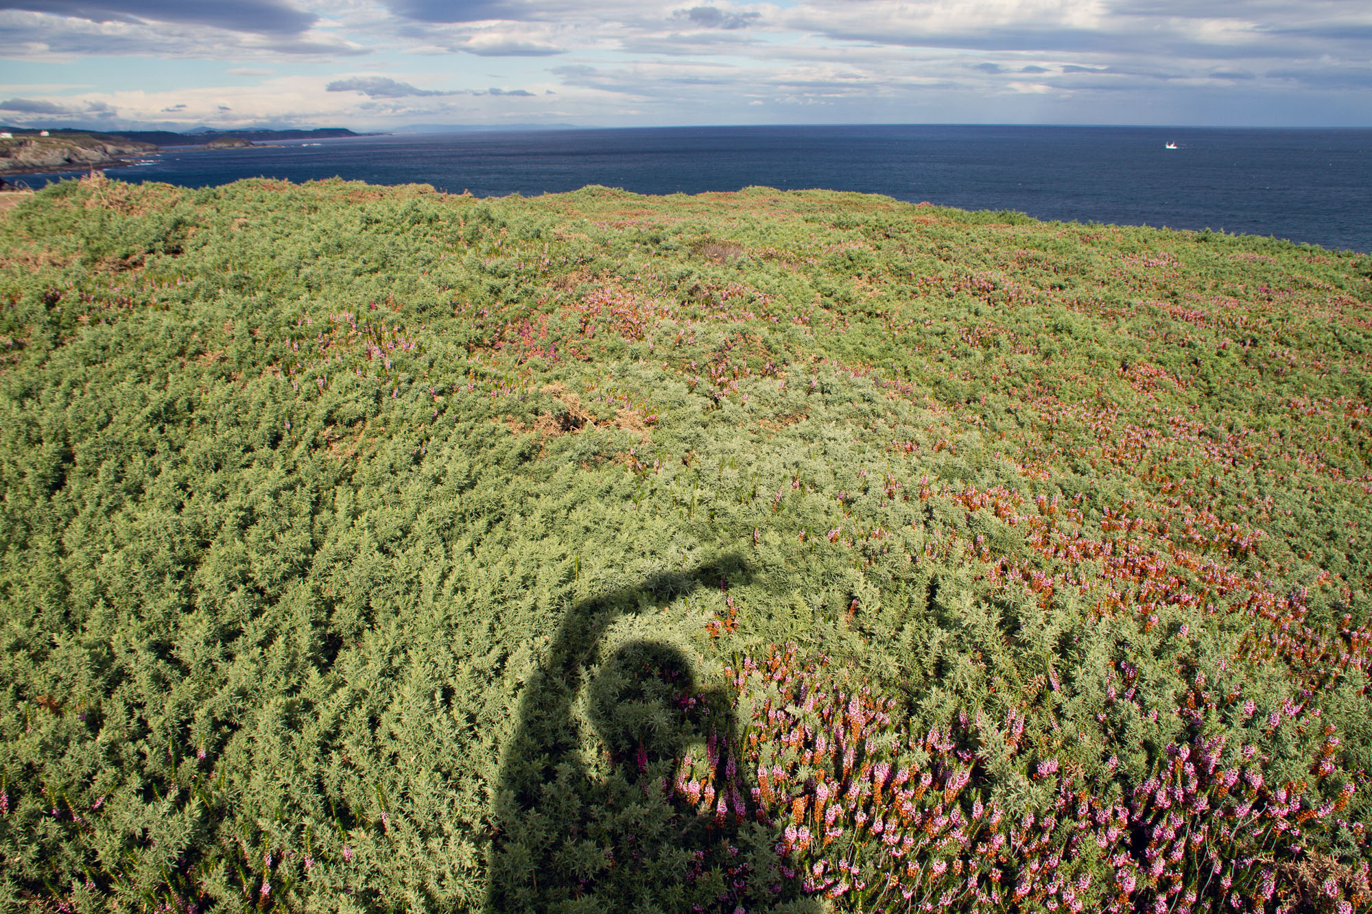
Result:
<instances>
[{"instance_id":1,"label":"long dark grey cloud in the top left corner","mask_svg":"<svg viewBox=\"0 0 1372 914\"><path fill-rule=\"evenodd\" d=\"M176 22L257 34L299 34L318 19L270 0L0 0L0 10L27 10L92 22Z\"/></svg>"}]
</instances>

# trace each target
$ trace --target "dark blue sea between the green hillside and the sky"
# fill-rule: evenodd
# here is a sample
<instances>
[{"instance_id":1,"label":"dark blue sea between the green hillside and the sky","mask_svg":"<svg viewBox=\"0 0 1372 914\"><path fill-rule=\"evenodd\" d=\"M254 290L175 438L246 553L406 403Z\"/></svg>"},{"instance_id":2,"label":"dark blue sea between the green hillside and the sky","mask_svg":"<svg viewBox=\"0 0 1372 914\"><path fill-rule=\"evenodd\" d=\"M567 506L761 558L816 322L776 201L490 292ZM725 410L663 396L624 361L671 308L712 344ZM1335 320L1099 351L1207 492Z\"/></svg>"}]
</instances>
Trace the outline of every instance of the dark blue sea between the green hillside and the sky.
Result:
<instances>
[{"instance_id":1,"label":"dark blue sea between the green hillside and the sky","mask_svg":"<svg viewBox=\"0 0 1372 914\"><path fill-rule=\"evenodd\" d=\"M1165 148L1169 141L1177 148ZM107 173L185 187L340 176L477 196L587 184L642 194L756 184L830 188L1045 220L1210 228L1372 251L1368 129L910 125L457 133L166 151L152 165Z\"/></svg>"}]
</instances>

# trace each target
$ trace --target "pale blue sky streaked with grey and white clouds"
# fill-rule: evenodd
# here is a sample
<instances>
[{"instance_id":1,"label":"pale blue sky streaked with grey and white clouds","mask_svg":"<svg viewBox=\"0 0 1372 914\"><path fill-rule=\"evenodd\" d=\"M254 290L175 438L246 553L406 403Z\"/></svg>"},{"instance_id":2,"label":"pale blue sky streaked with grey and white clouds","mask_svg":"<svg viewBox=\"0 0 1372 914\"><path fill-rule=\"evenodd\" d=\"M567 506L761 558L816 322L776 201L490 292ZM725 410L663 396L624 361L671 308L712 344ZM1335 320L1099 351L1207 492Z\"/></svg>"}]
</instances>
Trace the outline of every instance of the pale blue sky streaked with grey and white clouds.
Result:
<instances>
[{"instance_id":1,"label":"pale blue sky streaked with grey and white clouds","mask_svg":"<svg viewBox=\"0 0 1372 914\"><path fill-rule=\"evenodd\" d=\"M1372 3L0 0L0 122L1372 126Z\"/></svg>"}]
</instances>

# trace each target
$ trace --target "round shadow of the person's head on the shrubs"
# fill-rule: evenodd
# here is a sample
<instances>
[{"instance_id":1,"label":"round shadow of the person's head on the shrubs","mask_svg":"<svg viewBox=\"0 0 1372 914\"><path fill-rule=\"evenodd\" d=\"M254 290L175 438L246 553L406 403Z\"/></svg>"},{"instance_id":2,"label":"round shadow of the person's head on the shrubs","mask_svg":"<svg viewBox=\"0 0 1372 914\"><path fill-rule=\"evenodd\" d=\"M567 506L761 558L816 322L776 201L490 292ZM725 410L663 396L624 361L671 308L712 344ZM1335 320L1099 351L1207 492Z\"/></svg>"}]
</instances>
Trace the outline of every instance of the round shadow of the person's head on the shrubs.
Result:
<instances>
[{"instance_id":1,"label":"round shadow of the person's head on the shrubs","mask_svg":"<svg viewBox=\"0 0 1372 914\"><path fill-rule=\"evenodd\" d=\"M697 690L694 664L671 644L630 641L587 683L587 716L611 759L634 780L705 738L718 707Z\"/></svg>"}]
</instances>

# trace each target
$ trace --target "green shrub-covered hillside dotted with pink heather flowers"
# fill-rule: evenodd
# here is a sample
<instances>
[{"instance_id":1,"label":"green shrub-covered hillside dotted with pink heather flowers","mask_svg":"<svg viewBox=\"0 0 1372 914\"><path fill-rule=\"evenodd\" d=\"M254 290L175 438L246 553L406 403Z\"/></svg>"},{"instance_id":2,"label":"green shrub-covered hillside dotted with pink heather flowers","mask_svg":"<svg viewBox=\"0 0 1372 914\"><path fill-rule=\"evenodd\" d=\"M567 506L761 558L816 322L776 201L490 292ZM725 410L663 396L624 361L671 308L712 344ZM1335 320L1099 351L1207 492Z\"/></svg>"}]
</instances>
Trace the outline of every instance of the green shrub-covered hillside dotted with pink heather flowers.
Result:
<instances>
[{"instance_id":1,"label":"green shrub-covered hillside dotted with pink heather flowers","mask_svg":"<svg viewBox=\"0 0 1372 914\"><path fill-rule=\"evenodd\" d=\"M0 899L1372 903L1372 258L778 192L0 218Z\"/></svg>"}]
</instances>

